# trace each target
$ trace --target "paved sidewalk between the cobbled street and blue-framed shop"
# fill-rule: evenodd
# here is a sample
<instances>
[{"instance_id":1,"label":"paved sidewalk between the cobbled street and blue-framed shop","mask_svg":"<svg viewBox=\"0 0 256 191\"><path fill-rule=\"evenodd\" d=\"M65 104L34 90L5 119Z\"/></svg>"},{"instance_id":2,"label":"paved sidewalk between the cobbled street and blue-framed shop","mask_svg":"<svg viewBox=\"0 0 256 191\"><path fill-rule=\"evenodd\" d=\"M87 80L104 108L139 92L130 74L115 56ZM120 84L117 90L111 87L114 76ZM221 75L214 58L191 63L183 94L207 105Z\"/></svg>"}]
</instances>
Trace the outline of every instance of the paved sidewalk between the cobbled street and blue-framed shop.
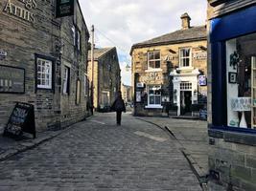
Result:
<instances>
[{"instance_id":1,"label":"paved sidewalk between the cobbled street and blue-framed shop","mask_svg":"<svg viewBox=\"0 0 256 191\"><path fill-rule=\"evenodd\" d=\"M171 117L137 117L168 129L178 141L179 148L197 173L198 180L205 182L208 174L207 122Z\"/></svg>"}]
</instances>

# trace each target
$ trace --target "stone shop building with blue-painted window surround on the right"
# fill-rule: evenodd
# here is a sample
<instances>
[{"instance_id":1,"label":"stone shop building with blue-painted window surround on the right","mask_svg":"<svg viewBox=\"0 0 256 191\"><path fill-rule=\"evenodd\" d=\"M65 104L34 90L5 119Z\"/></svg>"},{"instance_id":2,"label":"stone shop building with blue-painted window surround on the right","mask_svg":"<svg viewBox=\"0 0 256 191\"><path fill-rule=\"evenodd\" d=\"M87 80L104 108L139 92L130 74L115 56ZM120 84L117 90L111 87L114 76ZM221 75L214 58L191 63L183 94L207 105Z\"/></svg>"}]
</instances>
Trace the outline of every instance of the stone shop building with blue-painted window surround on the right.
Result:
<instances>
[{"instance_id":1,"label":"stone shop building with blue-painted window surround on the right","mask_svg":"<svg viewBox=\"0 0 256 191\"><path fill-rule=\"evenodd\" d=\"M256 190L256 1L208 1L209 190Z\"/></svg>"}]
</instances>

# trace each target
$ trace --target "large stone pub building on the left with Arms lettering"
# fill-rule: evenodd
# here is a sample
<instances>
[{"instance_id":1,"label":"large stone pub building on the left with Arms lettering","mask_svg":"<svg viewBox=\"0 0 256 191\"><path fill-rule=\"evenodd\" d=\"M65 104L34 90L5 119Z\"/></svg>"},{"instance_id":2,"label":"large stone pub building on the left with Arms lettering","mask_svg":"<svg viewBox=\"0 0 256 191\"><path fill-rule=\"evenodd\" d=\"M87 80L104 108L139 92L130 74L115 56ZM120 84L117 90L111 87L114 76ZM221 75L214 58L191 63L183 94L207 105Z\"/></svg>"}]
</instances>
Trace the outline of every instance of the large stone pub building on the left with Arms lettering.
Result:
<instances>
[{"instance_id":1,"label":"large stone pub building on the left with Arms lettering","mask_svg":"<svg viewBox=\"0 0 256 191\"><path fill-rule=\"evenodd\" d=\"M62 128L88 115L89 33L78 1L56 18L56 1L0 1L0 126L15 102L33 104L36 131Z\"/></svg>"}]
</instances>

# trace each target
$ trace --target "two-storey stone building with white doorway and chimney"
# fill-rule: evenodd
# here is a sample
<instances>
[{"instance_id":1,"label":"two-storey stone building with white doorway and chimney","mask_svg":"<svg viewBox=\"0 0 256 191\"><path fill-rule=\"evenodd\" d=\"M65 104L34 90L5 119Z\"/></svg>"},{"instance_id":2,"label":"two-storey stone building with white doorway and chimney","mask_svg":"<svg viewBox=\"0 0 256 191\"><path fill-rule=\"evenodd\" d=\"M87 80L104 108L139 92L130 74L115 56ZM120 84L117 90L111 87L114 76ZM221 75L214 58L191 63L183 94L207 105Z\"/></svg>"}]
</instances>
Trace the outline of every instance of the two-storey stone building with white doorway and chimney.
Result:
<instances>
[{"instance_id":1,"label":"two-storey stone building with white doorway and chimney","mask_svg":"<svg viewBox=\"0 0 256 191\"><path fill-rule=\"evenodd\" d=\"M206 26L192 27L190 20L184 13L180 30L132 46L134 115L161 116L168 104L180 116L206 105Z\"/></svg>"}]
</instances>

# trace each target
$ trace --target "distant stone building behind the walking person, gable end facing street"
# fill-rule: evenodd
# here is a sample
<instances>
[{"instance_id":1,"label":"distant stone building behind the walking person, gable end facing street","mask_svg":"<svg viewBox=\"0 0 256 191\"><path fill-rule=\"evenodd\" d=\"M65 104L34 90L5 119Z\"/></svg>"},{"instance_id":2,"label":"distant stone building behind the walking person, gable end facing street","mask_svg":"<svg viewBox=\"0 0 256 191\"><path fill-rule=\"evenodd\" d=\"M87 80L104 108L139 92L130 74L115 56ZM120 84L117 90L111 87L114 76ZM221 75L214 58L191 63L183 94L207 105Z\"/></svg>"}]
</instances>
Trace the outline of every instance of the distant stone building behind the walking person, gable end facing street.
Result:
<instances>
[{"instance_id":1,"label":"distant stone building behind the walking person, gable end facing street","mask_svg":"<svg viewBox=\"0 0 256 191\"><path fill-rule=\"evenodd\" d=\"M91 82L91 51L88 55L88 75ZM116 92L121 90L121 75L115 47L94 50L93 105L97 111L109 111Z\"/></svg>"}]
</instances>

